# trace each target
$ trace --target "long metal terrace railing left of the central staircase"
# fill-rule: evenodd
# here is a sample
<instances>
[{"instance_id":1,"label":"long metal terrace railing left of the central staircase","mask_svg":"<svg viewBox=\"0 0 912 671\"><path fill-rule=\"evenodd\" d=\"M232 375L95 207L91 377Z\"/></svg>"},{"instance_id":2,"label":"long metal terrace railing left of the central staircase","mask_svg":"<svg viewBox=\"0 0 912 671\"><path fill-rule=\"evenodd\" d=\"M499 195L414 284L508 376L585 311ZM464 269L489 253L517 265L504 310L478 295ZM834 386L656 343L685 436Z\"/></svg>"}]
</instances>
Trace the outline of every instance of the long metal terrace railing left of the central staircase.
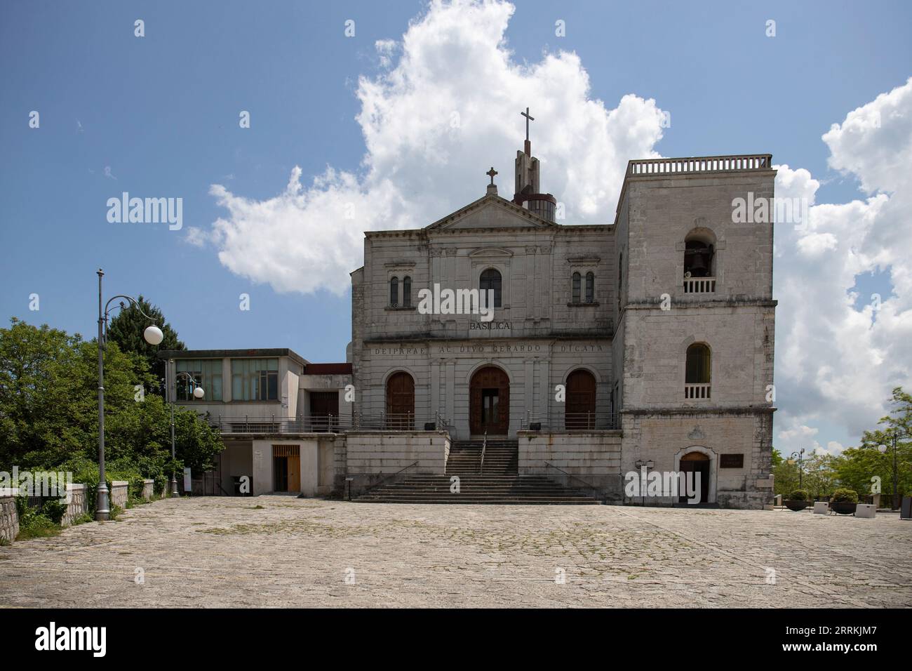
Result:
<instances>
[{"instance_id":1,"label":"long metal terrace railing left of the central staircase","mask_svg":"<svg viewBox=\"0 0 912 671\"><path fill-rule=\"evenodd\" d=\"M310 417L269 416L223 417L210 415L209 423L223 434L320 434L347 431L446 431L451 423L440 413L325 414Z\"/></svg>"}]
</instances>

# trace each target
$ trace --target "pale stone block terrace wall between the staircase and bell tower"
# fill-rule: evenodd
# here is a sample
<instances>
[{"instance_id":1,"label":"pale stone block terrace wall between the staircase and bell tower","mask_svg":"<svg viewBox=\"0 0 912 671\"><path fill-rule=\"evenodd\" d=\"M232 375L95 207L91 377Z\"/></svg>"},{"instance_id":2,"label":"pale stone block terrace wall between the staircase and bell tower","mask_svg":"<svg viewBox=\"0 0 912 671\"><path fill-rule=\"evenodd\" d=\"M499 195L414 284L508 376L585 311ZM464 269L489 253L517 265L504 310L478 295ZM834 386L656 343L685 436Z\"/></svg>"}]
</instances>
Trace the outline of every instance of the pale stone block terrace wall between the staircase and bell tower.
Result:
<instances>
[{"instance_id":1,"label":"pale stone block terrace wall between the staircase and bell tower","mask_svg":"<svg viewBox=\"0 0 912 671\"><path fill-rule=\"evenodd\" d=\"M571 487L588 484L607 498L620 498L620 431L521 431L518 436L521 476L548 476L566 480L564 484ZM545 462L556 468L548 467ZM575 477L567 477L562 471Z\"/></svg>"}]
</instances>

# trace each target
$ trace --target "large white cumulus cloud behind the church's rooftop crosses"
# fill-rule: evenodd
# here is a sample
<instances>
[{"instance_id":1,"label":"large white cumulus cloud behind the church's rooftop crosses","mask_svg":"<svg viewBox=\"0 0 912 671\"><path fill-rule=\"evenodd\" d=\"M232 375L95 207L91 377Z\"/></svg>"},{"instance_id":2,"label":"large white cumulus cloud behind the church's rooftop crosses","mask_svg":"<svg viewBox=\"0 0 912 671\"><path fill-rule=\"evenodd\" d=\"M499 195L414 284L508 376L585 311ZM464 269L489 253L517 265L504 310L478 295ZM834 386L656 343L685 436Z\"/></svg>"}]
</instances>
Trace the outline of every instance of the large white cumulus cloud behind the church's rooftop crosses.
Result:
<instances>
[{"instance_id":1,"label":"large white cumulus cloud behind the church's rooftop crosses","mask_svg":"<svg viewBox=\"0 0 912 671\"><path fill-rule=\"evenodd\" d=\"M225 267L276 291L342 294L364 231L417 228L471 203L492 165L513 196L526 105L543 191L565 204L566 223L610 223L627 161L658 156L662 111L635 95L613 109L594 100L575 53L516 62L504 38L512 15L505 2L432 3L399 40L375 44L383 69L358 80L357 169L327 168L305 184L295 167L265 200L214 184L225 214L188 241L211 243Z\"/></svg>"}]
</instances>

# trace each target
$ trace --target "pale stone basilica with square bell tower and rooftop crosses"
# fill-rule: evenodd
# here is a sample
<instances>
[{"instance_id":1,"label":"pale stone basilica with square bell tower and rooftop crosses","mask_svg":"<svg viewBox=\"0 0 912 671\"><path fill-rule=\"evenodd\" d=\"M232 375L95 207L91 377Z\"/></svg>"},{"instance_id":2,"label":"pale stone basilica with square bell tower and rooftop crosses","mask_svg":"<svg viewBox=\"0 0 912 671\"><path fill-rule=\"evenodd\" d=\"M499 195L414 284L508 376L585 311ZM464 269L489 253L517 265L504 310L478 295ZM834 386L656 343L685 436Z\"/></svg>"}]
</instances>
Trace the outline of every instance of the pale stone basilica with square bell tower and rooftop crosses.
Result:
<instances>
[{"instance_id":1,"label":"pale stone basilica with square bell tower and rooftop crosses","mask_svg":"<svg viewBox=\"0 0 912 671\"><path fill-rule=\"evenodd\" d=\"M402 472L427 493L481 475L488 458L516 491L546 477L677 504L625 486L685 472L700 474L702 503L772 503L772 223L732 215L738 199L772 204L772 156L630 161L606 225L561 223L528 137L512 193L488 175L482 197L436 222L365 234L347 364L308 378L323 414L308 414L302 388L285 425L223 428L229 450L254 454L241 470L295 445L295 467L322 474L307 493L357 494ZM304 379L308 365L330 364L291 368ZM317 426L327 388L336 419ZM268 466L259 473L254 491L277 490ZM387 500L420 500L398 487Z\"/></svg>"}]
</instances>

